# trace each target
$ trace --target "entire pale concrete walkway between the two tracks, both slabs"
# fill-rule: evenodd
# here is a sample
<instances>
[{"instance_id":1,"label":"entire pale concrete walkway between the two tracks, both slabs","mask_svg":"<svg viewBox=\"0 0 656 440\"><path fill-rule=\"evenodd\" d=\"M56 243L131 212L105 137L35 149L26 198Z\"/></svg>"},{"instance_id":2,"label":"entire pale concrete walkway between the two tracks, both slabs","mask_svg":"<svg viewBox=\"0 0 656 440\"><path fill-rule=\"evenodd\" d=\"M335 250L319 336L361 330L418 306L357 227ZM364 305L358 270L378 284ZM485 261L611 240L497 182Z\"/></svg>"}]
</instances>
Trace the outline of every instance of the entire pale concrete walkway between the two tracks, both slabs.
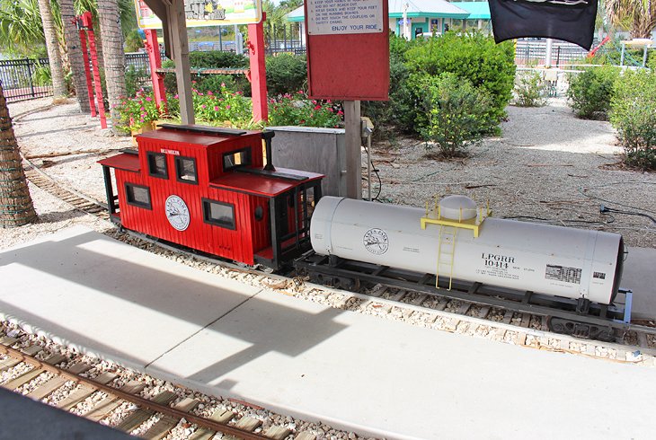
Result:
<instances>
[{"instance_id":1,"label":"entire pale concrete walkway between the two tracks, both slabs","mask_svg":"<svg viewBox=\"0 0 656 440\"><path fill-rule=\"evenodd\" d=\"M653 437L656 369L412 327L75 228L0 253L0 312L102 356L387 438Z\"/></svg>"}]
</instances>

